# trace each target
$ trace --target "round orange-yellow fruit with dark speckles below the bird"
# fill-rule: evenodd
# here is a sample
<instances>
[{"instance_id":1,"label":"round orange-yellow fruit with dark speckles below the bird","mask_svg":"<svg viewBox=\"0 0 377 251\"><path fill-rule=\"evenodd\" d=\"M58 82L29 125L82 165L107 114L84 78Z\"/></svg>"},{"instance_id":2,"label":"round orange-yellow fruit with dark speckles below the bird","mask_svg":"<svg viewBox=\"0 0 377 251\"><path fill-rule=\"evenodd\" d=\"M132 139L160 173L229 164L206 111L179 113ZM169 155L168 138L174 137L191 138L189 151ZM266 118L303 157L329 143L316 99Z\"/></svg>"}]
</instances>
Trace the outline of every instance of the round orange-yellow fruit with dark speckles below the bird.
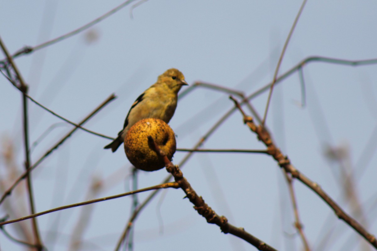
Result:
<instances>
[{"instance_id":1,"label":"round orange-yellow fruit with dark speckles below the bird","mask_svg":"<svg viewBox=\"0 0 377 251\"><path fill-rule=\"evenodd\" d=\"M124 138L124 151L137 169L155 171L164 167L165 163L148 144L149 135L171 160L176 150L175 134L172 128L160 119L143 119L135 123Z\"/></svg>"}]
</instances>

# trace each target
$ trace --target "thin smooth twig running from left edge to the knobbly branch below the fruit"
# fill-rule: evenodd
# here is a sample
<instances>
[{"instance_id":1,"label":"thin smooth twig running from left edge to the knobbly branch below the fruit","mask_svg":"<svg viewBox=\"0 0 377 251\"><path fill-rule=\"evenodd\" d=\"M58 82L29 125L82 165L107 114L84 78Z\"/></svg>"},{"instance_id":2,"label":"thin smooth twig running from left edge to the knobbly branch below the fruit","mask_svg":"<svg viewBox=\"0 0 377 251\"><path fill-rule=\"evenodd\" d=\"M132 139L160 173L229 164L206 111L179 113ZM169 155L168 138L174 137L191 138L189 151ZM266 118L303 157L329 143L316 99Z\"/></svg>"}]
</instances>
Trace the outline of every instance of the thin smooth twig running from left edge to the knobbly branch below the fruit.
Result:
<instances>
[{"instance_id":1,"label":"thin smooth twig running from left edge to the knobbly branch below the fruit","mask_svg":"<svg viewBox=\"0 0 377 251\"><path fill-rule=\"evenodd\" d=\"M169 182L169 183L159 184L159 185L156 185L156 186L153 186L153 187L146 187L146 188L143 188L143 189L139 189L139 190L135 190L135 191L127 192L127 193L121 193L121 194L118 194L118 195L108 196L108 197L104 197L104 198L100 198L100 199L92 199L90 201L84 201L84 202L80 202L80 203L65 205L65 206L62 206L62 207L53 208L53 209L50 209L50 210L47 210L47 211L35 213L35 214L32 214L32 215L25 216L25 217L18 218L18 219L14 219L14 220L11 220L11 221L0 222L0 226L6 225L6 224L11 224L11 223L18 222L18 221L25 221L26 219L35 218L35 217L41 216L43 214L48 214L48 213L64 210L64 209L67 209L67 208L80 207L80 206L83 206L83 205L89 205L89 204L97 203L97 202L100 202L100 201L107 201L109 199L116 199L116 198L120 198L120 197L124 197L124 196L128 196L128 195L132 195L134 193L141 193L141 192L145 192L145 191L149 191L149 190L163 189L163 188L169 188L169 187L179 188L179 185L176 182Z\"/></svg>"}]
</instances>

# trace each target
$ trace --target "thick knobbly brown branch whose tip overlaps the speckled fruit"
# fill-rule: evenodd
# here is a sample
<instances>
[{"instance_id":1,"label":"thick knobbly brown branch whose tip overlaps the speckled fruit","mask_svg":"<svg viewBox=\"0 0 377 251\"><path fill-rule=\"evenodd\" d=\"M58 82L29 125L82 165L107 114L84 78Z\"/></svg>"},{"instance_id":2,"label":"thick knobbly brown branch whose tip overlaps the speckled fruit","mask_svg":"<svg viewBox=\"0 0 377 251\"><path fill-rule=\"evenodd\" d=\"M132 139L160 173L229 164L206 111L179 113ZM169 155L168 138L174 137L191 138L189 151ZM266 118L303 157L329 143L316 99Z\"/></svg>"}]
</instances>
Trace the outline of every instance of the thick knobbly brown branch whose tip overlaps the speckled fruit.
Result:
<instances>
[{"instance_id":1,"label":"thick knobbly brown branch whose tip overlaps the speckled fruit","mask_svg":"<svg viewBox=\"0 0 377 251\"><path fill-rule=\"evenodd\" d=\"M167 158L166 154L159 149L159 146L153 141L151 136L148 137L148 141L155 146L157 154L164 159L166 170L173 175L175 181L179 184L179 187L181 187L181 189L185 192L186 197L189 198L190 202L195 205L194 209L198 211L198 213L203 216L208 223L218 225L224 234L230 233L246 240L248 243L258 248L258 250L276 251L276 249L267 243L246 232L244 228L235 227L229 224L225 216L219 216L216 214L216 212L204 202L204 199L191 187L189 181L184 178L179 167L174 166L173 163Z\"/></svg>"}]
</instances>

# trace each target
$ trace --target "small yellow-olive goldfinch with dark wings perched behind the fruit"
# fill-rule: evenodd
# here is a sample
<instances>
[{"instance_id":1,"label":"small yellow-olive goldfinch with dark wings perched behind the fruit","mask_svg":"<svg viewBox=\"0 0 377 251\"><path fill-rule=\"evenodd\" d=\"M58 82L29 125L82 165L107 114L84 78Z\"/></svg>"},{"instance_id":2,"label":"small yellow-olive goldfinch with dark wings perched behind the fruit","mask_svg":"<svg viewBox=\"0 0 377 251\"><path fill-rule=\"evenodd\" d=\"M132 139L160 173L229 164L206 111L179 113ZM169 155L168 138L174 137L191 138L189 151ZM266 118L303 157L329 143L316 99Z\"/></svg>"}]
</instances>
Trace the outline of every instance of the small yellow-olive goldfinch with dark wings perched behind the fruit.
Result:
<instances>
[{"instance_id":1,"label":"small yellow-olive goldfinch with dark wings perched behind the fruit","mask_svg":"<svg viewBox=\"0 0 377 251\"><path fill-rule=\"evenodd\" d=\"M169 123L177 107L178 91L182 85L187 85L185 77L175 68L158 76L157 82L133 102L118 137L104 148L111 148L115 152L123 143L127 131L139 120L155 118Z\"/></svg>"}]
</instances>

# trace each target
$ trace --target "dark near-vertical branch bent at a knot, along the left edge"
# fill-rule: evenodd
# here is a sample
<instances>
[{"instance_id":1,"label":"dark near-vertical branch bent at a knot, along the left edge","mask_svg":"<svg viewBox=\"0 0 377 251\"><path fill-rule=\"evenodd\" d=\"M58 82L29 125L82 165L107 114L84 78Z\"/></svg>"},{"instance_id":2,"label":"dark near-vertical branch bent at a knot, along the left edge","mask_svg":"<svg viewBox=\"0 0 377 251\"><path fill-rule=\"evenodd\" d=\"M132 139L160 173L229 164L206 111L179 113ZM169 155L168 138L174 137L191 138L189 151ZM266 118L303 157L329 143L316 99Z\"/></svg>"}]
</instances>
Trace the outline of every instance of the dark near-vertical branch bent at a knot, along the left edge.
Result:
<instances>
[{"instance_id":1,"label":"dark near-vertical branch bent at a knot, along the left edge","mask_svg":"<svg viewBox=\"0 0 377 251\"><path fill-rule=\"evenodd\" d=\"M23 138L24 138L24 148L25 148L25 169L28 170L30 167L30 152L29 152L29 114L28 114L28 99L26 97L26 93L28 93L28 86L25 84L25 81L23 80L23 77L18 70L16 64L13 62L12 57L10 56L8 50L5 47L5 44L3 43L2 39L0 38L0 47L2 48L6 59L8 60L8 63L12 66L12 69L14 70L17 80L19 81L20 85L18 86L19 90L22 91L22 110L23 110ZM9 78L11 78L11 75L9 75ZM33 193L33 187L32 187L32 181L31 181L31 174L28 172L26 175L26 184L28 189L28 195L29 195L29 204L30 204L30 211L31 214L35 213L35 206L34 206L34 193ZM37 250L42 250L43 245L41 244L40 234L38 230L38 224L36 219L32 219L32 229L33 234L35 238L35 246L37 246Z\"/></svg>"}]
</instances>

